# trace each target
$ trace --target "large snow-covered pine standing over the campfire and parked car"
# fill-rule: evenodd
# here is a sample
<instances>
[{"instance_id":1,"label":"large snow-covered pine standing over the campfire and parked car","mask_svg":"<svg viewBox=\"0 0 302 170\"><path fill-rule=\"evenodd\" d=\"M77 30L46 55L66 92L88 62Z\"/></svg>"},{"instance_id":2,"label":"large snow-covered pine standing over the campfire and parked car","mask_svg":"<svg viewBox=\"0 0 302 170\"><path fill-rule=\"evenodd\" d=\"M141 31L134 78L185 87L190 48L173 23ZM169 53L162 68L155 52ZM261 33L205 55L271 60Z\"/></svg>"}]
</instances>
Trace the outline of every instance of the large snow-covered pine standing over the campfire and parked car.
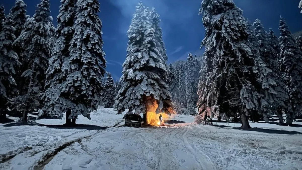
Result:
<instances>
[{"instance_id":1,"label":"large snow-covered pine standing over the campfire and parked car","mask_svg":"<svg viewBox=\"0 0 302 170\"><path fill-rule=\"evenodd\" d=\"M136 6L129 30L127 56L120 78L121 89L116 97L114 108L117 114L129 109L127 114L144 115L146 123L147 105L156 102L160 111L170 113L172 107L168 86L168 70L165 60L156 48L153 28L150 29L149 8L142 2Z\"/></svg>"}]
</instances>

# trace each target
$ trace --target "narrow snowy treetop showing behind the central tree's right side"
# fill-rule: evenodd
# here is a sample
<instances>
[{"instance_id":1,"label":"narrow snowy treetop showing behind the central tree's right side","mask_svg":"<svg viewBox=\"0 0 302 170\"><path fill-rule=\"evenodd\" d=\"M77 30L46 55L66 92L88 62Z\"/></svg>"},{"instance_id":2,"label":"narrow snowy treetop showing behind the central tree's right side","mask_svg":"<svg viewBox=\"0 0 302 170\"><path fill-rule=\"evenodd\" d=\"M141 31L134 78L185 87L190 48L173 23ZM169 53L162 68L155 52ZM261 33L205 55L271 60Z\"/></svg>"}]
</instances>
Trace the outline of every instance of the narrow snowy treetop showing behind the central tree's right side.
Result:
<instances>
[{"instance_id":1,"label":"narrow snowy treetop showing behind the central tree's right side","mask_svg":"<svg viewBox=\"0 0 302 170\"><path fill-rule=\"evenodd\" d=\"M159 14L157 14L154 7L151 8L151 19L152 19L152 28L154 28L155 30L154 36L155 36L156 47L166 62L168 60L168 57L165 49L165 43L162 40L162 28L159 25L160 23Z\"/></svg>"}]
</instances>

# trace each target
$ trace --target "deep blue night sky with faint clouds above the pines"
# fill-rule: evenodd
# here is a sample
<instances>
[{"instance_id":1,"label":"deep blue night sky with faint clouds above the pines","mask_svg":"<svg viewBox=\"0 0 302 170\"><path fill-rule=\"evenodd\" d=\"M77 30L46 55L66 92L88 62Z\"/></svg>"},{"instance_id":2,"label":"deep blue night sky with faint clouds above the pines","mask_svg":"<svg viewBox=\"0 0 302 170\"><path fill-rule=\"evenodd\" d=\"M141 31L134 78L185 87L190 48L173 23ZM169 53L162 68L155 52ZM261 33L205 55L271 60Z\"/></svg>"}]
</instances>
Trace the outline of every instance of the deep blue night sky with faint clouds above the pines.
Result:
<instances>
[{"instance_id":1,"label":"deep blue night sky with faint clouds above the pines","mask_svg":"<svg viewBox=\"0 0 302 170\"><path fill-rule=\"evenodd\" d=\"M6 14L14 5L13 0L0 0L6 9ZM135 5L139 0L101 0L100 17L103 22L103 41L107 71L114 79L121 76L121 65L126 57L127 36ZM24 0L28 15L35 12L35 5L40 0ZM243 9L244 16L250 21L259 18L265 29L273 28L279 35L278 22L282 15L292 32L302 30L302 14L298 8L299 0L234 0ZM60 0L51 0L51 11L56 25ZM202 54L199 45L204 38L204 28L198 9L201 0L143 0L145 6L154 6L162 20L161 26L168 62L178 59L185 60L188 52Z\"/></svg>"}]
</instances>

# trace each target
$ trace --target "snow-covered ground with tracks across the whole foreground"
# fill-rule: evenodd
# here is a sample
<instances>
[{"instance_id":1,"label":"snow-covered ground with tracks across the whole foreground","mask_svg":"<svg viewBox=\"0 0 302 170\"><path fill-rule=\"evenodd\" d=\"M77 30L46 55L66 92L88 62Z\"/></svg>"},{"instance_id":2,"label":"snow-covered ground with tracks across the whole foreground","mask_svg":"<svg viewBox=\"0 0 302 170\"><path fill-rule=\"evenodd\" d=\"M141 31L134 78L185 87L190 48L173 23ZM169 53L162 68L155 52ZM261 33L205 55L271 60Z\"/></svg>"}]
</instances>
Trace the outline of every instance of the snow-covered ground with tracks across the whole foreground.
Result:
<instances>
[{"instance_id":1,"label":"snow-covered ground with tracks across the whole foreground","mask_svg":"<svg viewBox=\"0 0 302 170\"><path fill-rule=\"evenodd\" d=\"M81 116L77 123L93 126L76 129L41 125L63 124L64 120L59 119L38 120L40 124L33 126L1 125L0 154L6 158L16 155L1 163L0 169L298 170L302 167L301 120L294 122L297 127L250 123L253 128L244 131L237 129L240 123L196 125L190 115L177 115L171 118L177 124L161 128L120 126L123 115L115 115L107 108L92 113L91 117L88 120ZM122 123L112 127L119 122ZM105 126L109 128L102 128ZM25 147L27 151L21 153Z\"/></svg>"}]
</instances>

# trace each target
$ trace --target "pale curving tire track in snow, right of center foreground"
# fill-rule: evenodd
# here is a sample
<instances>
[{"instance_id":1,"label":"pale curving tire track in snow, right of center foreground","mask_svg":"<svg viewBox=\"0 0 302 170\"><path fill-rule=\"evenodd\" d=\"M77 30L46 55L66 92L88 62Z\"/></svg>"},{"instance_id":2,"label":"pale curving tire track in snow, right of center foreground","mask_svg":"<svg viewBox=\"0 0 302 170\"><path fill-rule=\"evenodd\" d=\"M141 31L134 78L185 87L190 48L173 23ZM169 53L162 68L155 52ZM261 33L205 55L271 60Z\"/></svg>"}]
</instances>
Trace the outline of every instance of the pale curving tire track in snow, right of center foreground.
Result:
<instances>
[{"instance_id":1,"label":"pale curving tire track in snow, right of center foreground","mask_svg":"<svg viewBox=\"0 0 302 170\"><path fill-rule=\"evenodd\" d=\"M214 164L213 162L210 161L210 158L206 155L206 154L198 154L194 149L193 147L191 146L191 144L188 142L188 138L186 137L187 135L187 132L189 130L191 126L188 126L186 127L186 130L184 131L183 133L183 141L186 145L186 147L190 150L190 152L194 155L197 163L198 163L198 166L200 169L203 169L203 170L208 170L208 169L216 169L214 168ZM204 158L204 155L206 156L206 158ZM211 162L211 164L209 164L208 162Z\"/></svg>"}]
</instances>

